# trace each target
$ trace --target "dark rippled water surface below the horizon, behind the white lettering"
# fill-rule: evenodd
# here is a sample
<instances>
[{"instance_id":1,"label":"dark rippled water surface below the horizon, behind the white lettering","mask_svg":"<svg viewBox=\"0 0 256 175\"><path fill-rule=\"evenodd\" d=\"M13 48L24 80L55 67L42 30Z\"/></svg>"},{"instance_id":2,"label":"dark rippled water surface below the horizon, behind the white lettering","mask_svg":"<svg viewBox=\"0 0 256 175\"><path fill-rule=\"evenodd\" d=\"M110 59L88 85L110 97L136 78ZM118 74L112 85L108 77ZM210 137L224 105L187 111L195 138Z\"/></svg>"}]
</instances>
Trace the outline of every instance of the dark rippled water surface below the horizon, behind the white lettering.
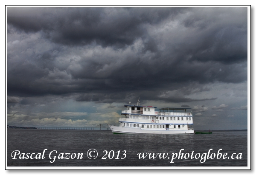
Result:
<instances>
[{"instance_id":1,"label":"dark rippled water surface below the horizon, behind the white lettering","mask_svg":"<svg viewBox=\"0 0 256 175\"><path fill-rule=\"evenodd\" d=\"M8 129L7 141L7 164L8 166L247 166L247 131L215 131L212 134L198 134L198 135L114 135L111 131L86 131L86 130L23 130L23 129ZM89 159L87 151L95 149L98 152L96 159ZM44 159L12 159L11 153L19 150L21 153L42 153L45 152ZM174 163L170 163L172 153L179 154L180 150L184 155L189 153L191 156L194 153L200 153L200 158L191 159L174 159ZM229 159L206 159L204 163L200 163L203 153L207 153L209 149L213 149L217 155L219 149L222 156L227 153ZM49 158L49 153L53 150L52 158L56 155L53 161ZM104 151L113 152L102 157L106 154ZM118 151L119 159L117 158ZM126 150L126 157L123 151ZM163 159L151 158L148 156L145 159L139 159L138 153L168 153L168 156ZM58 159L60 153L76 153L74 159ZM83 153L82 159L77 159L77 154ZM233 153L242 153L241 159L231 159ZM71 155L70 154L70 155ZM14 155L14 153L13 153ZM73 154L75 155L75 154ZM93 155L93 152L91 154ZM163 154L162 154L163 155ZM188 155L188 154L187 154ZM195 157L195 154L193 155ZM25 155L26 157L26 155ZM35 155L33 155L35 157ZM124 158L125 157L125 158ZM170 159L168 159L168 157ZM234 156L233 156L234 157ZM235 156L236 157L236 156ZM123 158L123 159L121 159Z\"/></svg>"}]
</instances>

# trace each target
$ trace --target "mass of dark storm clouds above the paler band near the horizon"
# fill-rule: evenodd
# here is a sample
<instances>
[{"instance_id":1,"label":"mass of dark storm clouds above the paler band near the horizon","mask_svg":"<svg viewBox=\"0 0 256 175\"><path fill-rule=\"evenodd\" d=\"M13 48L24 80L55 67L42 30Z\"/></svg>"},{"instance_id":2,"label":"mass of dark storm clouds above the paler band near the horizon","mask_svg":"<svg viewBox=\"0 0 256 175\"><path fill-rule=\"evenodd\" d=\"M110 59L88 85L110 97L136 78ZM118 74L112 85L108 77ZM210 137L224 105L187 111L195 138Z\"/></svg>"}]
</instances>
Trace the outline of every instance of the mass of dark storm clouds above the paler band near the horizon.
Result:
<instances>
[{"instance_id":1,"label":"mass of dark storm clouds above the paler band near the horizon","mask_svg":"<svg viewBox=\"0 0 256 175\"><path fill-rule=\"evenodd\" d=\"M8 8L7 15L9 96L192 102L216 99L186 97L209 91L208 83L247 81L247 8Z\"/></svg>"}]
</instances>

